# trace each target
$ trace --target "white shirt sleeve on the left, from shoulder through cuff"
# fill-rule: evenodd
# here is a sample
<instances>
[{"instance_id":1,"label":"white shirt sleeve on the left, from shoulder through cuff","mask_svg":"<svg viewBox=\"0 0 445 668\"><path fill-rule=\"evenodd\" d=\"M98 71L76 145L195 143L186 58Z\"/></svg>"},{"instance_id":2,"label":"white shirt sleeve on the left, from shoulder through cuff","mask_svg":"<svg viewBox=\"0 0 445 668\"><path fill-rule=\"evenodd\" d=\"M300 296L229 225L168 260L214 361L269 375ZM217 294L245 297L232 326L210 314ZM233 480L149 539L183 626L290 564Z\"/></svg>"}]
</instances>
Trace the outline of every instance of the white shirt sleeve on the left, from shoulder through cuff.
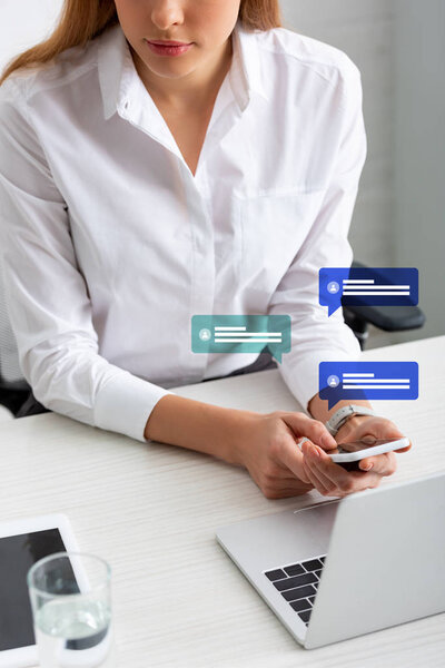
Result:
<instances>
[{"instance_id":1,"label":"white shirt sleeve on the left, from shoulder through cuff","mask_svg":"<svg viewBox=\"0 0 445 668\"><path fill-rule=\"evenodd\" d=\"M67 210L21 88L7 79L0 88L0 258L20 367L43 406L150 442L146 422L159 399L174 393L98 354Z\"/></svg>"}]
</instances>

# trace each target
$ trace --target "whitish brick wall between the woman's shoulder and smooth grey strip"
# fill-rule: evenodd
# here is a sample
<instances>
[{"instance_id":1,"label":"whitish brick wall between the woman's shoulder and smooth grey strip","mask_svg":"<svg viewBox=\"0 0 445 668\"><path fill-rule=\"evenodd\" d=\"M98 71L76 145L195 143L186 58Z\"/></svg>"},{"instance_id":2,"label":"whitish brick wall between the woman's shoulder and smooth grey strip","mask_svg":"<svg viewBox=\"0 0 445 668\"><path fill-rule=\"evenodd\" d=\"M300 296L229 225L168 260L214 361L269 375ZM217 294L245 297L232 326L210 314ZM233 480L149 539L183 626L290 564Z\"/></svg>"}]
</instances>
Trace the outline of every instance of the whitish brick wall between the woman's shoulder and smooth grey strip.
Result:
<instances>
[{"instance_id":1,"label":"whitish brick wall between the woman's shoulder and smooth grey strip","mask_svg":"<svg viewBox=\"0 0 445 668\"><path fill-rule=\"evenodd\" d=\"M345 51L362 72L368 155L349 240L354 256L369 266L393 266L395 126L394 24L392 0L281 0L286 28ZM397 336L370 330L368 347Z\"/></svg>"}]
</instances>

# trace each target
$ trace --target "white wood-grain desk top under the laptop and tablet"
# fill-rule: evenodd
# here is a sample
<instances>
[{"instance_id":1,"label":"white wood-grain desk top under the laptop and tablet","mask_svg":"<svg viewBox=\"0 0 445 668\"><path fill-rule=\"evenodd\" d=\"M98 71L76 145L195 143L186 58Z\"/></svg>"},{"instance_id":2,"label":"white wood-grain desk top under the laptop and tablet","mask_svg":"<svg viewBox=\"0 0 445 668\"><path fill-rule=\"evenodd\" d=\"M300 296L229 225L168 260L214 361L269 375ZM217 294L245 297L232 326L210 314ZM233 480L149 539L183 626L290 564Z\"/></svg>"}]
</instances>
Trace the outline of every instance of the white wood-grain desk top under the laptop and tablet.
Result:
<instances>
[{"instance_id":1,"label":"white wood-grain desk top under the laptop and tablet","mask_svg":"<svg viewBox=\"0 0 445 668\"><path fill-rule=\"evenodd\" d=\"M445 336L365 353L416 360L416 402L373 402L411 436L394 477L445 469ZM298 410L277 370L175 389L219 405ZM215 540L215 528L325 500L267 500L248 473L209 455L46 413L0 423L1 519L65 512L81 550L113 570L125 668L431 668L445 664L445 615L304 650ZM438 573L443 577L443 573Z\"/></svg>"}]
</instances>

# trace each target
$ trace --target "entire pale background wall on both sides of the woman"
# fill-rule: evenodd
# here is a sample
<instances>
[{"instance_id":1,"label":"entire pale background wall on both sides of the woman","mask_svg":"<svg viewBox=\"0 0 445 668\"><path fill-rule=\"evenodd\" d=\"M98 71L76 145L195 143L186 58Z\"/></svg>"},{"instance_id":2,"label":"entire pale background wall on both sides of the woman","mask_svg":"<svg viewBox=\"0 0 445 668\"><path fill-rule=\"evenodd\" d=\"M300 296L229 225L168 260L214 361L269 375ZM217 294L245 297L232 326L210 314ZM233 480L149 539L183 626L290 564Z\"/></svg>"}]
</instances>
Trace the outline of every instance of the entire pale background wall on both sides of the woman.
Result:
<instances>
[{"instance_id":1,"label":"entire pale background wall on both sides of the woman","mask_svg":"<svg viewBox=\"0 0 445 668\"><path fill-rule=\"evenodd\" d=\"M372 332L369 347L445 333L445 0L281 0L285 27L362 71L368 157L350 230L355 257L418 266L428 323ZM0 68L51 32L62 0L0 0ZM419 50L421 45L421 50Z\"/></svg>"}]
</instances>

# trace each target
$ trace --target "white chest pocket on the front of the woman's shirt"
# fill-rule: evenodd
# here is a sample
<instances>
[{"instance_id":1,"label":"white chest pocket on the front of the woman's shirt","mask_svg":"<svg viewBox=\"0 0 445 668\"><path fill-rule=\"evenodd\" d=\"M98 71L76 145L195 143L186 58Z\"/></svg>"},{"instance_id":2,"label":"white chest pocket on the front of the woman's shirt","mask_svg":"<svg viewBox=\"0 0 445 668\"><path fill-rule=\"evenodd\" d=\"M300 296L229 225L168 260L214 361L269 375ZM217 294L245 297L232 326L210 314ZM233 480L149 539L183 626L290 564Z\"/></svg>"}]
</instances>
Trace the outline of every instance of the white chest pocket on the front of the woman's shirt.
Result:
<instances>
[{"instance_id":1,"label":"white chest pocket on the front of the woman's shirt","mask_svg":"<svg viewBox=\"0 0 445 668\"><path fill-rule=\"evenodd\" d=\"M301 247L325 190L260 195L240 200L240 288L275 292Z\"/></svg>"}]
</instances>

